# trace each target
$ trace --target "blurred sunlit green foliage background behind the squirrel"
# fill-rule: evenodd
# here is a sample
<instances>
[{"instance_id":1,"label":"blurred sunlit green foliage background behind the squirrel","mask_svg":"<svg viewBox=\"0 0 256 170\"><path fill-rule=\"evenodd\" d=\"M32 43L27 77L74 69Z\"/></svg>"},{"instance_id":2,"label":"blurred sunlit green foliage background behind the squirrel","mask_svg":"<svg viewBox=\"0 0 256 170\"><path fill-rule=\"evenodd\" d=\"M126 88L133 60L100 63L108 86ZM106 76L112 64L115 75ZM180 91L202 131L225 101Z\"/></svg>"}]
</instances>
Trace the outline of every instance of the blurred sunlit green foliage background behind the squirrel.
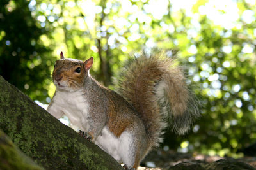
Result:
<instances>
[{"instance_id":1,"label":"blurred sunlit green foliage background behind the squirrel","mask_svg":"<svg viewBox=\"0 0 256 170\"><path fill-rule=\"evenodd\" d=\"M255 12L254 0L1 0L0 74L47 104L61 51L95 57L91 73L112 88L127 56L172 50L195 84L202 118L186 136L167 132L162 146L239 157L256 141Z\"/></svg>"}]
</instances>

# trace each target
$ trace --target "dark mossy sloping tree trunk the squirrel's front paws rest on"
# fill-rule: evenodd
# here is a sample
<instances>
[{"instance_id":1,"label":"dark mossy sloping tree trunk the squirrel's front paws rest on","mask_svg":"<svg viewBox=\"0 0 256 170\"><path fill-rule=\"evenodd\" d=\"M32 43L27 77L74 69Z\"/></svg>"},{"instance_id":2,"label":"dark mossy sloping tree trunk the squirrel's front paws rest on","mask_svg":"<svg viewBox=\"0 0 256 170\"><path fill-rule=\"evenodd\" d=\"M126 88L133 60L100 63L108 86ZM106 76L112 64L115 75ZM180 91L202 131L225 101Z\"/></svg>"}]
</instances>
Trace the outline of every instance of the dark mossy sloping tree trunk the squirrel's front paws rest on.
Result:
<instances>
[{"instance_id":1,"label":"dark mossy sloping tree trunk the squirrel's front paws rest on","mask_svg":"<svg viewBox=\"0 0 256 170\"><path fill-rule=\"evenodd\" d=\"M0 129L45 169L122 169L0 76Z\"/></svg>"}]
</instances>

